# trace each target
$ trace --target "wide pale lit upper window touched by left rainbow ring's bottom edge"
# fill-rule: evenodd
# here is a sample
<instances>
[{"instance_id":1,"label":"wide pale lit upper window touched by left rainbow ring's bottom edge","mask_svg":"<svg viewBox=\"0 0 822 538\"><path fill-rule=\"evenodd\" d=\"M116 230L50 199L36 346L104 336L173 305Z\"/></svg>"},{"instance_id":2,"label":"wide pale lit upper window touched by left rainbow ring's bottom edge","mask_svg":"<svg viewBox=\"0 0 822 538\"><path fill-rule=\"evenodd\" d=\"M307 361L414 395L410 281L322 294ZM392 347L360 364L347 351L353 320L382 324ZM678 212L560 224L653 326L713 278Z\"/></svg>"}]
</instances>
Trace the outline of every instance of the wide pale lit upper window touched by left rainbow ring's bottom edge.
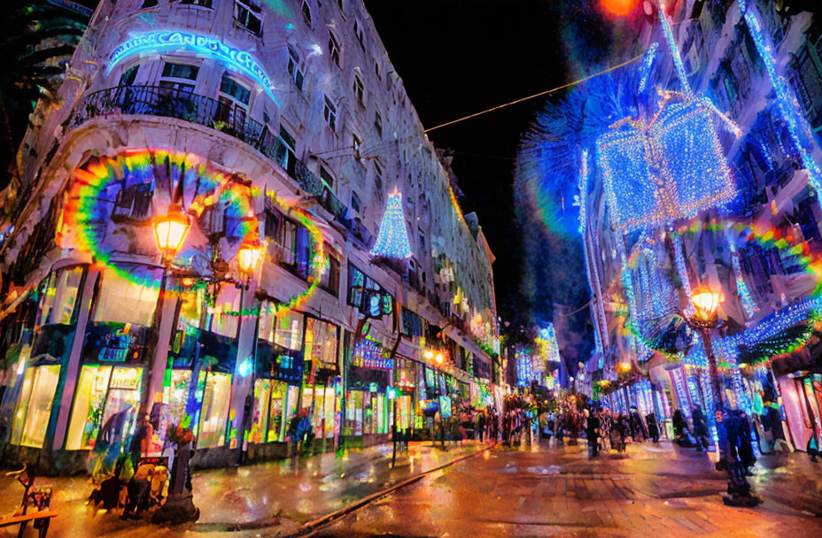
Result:
<instances>
[{"instance_id":1,"label":"wide pale lit upper window touched by left rainbow ring's bottom edge","mask_svg":"<svg viewBox=\"0 0 822 538\"><path fill-rule=\"evenodd\" d=\"M117 271L105 269L93 319L151 327L161 273L162 269L144 265L128 265Z\"/></svg>"}]
</instances>

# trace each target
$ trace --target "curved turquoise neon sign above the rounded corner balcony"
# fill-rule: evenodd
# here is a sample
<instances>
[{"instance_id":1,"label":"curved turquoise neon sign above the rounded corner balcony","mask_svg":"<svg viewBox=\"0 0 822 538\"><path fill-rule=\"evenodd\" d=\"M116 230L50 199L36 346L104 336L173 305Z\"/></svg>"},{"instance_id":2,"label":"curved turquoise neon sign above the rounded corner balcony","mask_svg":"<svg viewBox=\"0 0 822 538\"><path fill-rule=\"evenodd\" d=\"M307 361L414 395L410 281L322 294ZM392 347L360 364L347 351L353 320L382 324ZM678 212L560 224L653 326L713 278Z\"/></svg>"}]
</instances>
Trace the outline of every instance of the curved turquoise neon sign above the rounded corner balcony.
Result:
<instances>
[{"instance_id":1,"label":"curved turquoise neon sign above the rounded corner balcony","mask_svg":"<svg viewBox=\"0 0 822 538\"><path fill-rule=\"evenodd\" d=\"M165 50L190 50L198 55L213 58L223 65L232 67L260 84L266 90L268 96L274 99L275 104L279 106L279 102L274 96L274 90L276 89L274 82L271 81L268 73L252 54L245 50L229 47L219 39L207 35L190 34L189 32L176 30L137 35L128 41L121 42L120 46L114 49L111 58L109 58L106 73L110 73L114 65L136 54L158 53Z\"/></svg>"}]
</instances>

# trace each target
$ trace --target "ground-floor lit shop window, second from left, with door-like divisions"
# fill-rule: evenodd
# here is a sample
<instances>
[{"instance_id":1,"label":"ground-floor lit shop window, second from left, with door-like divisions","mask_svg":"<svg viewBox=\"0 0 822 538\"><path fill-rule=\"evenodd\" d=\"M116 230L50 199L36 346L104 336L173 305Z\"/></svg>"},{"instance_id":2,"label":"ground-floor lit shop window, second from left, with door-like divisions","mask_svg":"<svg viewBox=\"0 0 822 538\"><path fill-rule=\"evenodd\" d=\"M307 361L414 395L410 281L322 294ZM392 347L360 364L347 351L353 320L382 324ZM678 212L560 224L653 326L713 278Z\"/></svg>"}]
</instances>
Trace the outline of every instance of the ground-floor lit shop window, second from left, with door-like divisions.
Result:
<instances>
[{"instance_id":1,"label":"ground-floor lit shop window, second from left, with door-like divisions","mask_svg":"<svg viewBox=\"0 0 822 538\"><path fill-rule=\"evenodd\" d=\"M142 377L142 368L83 365L66 450L91 450L101 431L122 431L129 420L136 419Z\"/></svg>"}]
</instances>

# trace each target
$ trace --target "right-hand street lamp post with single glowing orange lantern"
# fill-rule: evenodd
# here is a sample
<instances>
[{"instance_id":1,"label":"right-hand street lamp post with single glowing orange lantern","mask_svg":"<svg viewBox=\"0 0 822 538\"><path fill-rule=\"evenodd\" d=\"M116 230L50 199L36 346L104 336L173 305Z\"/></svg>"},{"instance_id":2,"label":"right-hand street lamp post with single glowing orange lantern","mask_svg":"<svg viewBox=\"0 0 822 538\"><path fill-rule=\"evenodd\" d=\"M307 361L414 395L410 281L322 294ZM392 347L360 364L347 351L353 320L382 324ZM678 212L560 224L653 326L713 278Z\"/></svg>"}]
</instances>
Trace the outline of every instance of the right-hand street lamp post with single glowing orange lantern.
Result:
<instances>
[{"instance_id":1,"label":"right-hand street lamp post with single glowing orange lantern","mask_svg":"<svg viewBox=\"0 0 822 538\"><path fill-rule=\"evenodd\" d=\"M708 372L710 375L710 392L714 401L714 414L717 422L717 430L724 428L722 423L725 420L725 404L722 400L722 387L719 382L719 370L717 368L717 357L714 355L713 346L710 342L710 330L717 327L717 309L722 301L722 294L708 288L698 289L691 298L694 304L694 313L690 316L683 316L686 323L699 331L702 337L702 345L705 346L705 356L708 358ZM718 433L718 432L717 432ZM741 465L736 465L736 460L731 454L728 443L727 430L720 435L717 450L719 450L720 461L725 462L725 471L728 473L728 493L731 497L725 497L725 504L732 506L756 506L761 503L760 499L750 494L750 484L745 478Z\"/></svg>"}]
</instances>

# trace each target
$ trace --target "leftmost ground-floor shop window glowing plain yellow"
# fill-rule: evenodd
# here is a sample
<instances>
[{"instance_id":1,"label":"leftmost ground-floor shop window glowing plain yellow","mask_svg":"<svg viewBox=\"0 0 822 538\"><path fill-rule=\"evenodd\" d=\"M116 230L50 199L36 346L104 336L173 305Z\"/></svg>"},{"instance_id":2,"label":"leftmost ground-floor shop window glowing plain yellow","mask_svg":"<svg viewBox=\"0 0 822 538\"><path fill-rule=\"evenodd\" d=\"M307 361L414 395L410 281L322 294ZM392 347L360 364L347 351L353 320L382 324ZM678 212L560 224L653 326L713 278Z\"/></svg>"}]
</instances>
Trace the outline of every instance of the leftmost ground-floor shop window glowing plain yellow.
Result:
<instances>
[{"instance_id":1,"label":"leftmost ground-floor shop window glowing plain yellow","mask_svg":"<svg viewBox=\"0 0 822 538\"><path fill-rule=\"evenodd\" d=\"M59 377L59 365L32 366L26 370L12 421L12 444L43 448Z\"/></svg>"}]
</instances>

